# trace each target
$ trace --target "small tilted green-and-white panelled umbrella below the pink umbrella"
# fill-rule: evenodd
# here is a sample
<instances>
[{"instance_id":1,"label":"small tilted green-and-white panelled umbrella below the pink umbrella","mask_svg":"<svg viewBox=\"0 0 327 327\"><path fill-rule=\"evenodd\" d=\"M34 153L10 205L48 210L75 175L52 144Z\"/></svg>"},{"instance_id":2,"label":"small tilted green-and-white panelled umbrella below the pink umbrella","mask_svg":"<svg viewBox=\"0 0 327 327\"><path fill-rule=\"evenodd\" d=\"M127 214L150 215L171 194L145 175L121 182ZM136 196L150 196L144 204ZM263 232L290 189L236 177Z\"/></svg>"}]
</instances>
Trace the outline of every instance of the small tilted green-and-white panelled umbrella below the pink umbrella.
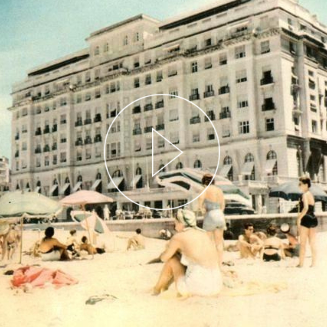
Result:
<instances>
[{"instance_id":1,"label":"small tilted green-and-white panelled umbrella below the pink umbrella","mask_svg":"<svg viewBox=\"0 0 327 327\"><path fill-rule=\"evenodd\" d=\"M99 234L110 232L106 223L95 212L73 210L70 215L73 220L81 223L81 226L86 230L89 227Z\"/></svg>"}]
</instances>

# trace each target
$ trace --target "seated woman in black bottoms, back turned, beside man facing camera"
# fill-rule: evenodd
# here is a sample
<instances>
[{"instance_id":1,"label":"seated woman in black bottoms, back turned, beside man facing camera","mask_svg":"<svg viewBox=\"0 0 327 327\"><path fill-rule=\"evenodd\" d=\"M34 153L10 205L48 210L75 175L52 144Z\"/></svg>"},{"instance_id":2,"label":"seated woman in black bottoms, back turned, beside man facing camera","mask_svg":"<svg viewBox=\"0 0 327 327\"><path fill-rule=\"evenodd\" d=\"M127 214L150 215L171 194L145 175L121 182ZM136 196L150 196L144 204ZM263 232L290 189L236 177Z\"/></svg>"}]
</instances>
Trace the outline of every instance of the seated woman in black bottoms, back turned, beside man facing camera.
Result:
<instances>
[{"instance_id":1,"label":"seated woman in black bottoms, back turned, beside man facing camera","mask_svg":"<svg viewBox=\"0 0 327 327\"><path fill-rule=\"evenodd\" d=\"M280 261L285 259L284 245L280 238L276 237L277 229L275 226L268 226L267 239L264 240L262 251L263 261Z\"/></svg>"}]
</instances>

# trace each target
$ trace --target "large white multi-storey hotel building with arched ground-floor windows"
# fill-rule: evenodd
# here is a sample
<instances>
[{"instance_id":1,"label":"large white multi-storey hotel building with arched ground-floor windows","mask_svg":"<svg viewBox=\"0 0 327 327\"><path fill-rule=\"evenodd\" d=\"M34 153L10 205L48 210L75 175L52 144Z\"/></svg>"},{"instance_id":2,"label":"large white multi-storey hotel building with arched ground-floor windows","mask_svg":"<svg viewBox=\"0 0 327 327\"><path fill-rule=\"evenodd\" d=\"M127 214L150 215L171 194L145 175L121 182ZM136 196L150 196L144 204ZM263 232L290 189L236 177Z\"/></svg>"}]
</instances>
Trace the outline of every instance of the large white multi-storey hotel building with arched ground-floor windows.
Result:
<instances>
[{"instance_id":1,"label":"large white multi-storey hotel building with arched ground-floor windows","mask_svg":"<svg viewBox=\"0 0 327 327\"><path fill-rule=\"evenodd\" d=\"M179 95L207 112L221 146L218 172L252 195L254 207L276 210L269 187L303 172L326 188L327 28L298 1L217 1L163 22L138 15L86 41L13 86L12 189L63 196L82 187L127 203L112 193L104 139L122 108L150 94ZM179 101L133 104L108 137L110 173L142 204L185 198L152 179L145 187L152 127L184 151L168 170L215 166L210 122ZM176 153L158 142L159 169Z\"/></svg>"}]
</instances>

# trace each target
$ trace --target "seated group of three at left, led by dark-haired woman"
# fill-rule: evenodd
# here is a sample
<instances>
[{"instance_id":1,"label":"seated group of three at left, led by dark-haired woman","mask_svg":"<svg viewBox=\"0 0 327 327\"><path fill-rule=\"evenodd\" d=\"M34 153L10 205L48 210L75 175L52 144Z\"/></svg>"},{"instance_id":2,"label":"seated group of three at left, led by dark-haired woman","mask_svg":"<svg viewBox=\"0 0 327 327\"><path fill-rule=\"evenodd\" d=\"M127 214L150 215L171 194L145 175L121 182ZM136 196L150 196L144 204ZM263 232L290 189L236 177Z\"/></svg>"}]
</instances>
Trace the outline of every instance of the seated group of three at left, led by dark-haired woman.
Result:
<instances>
[{"instance_id":1,"label":"seated group of three at left, led by dark-haired woman","mask_svg":"<svg viewBox=\"0 0 327 327\"><path fill-rule=\"evenodd\" d=\"M76 230L71 230L67 238L66 244L62 244L57 238L53 237L55 230L52 226L45 229L45 236L40 242L39 253L43 261L71 260L79 257L81 251L87 254L102 254L105 252L103 248L94 247L84 235L81 241L77 240Z\"/></svg>"}]
</instances>

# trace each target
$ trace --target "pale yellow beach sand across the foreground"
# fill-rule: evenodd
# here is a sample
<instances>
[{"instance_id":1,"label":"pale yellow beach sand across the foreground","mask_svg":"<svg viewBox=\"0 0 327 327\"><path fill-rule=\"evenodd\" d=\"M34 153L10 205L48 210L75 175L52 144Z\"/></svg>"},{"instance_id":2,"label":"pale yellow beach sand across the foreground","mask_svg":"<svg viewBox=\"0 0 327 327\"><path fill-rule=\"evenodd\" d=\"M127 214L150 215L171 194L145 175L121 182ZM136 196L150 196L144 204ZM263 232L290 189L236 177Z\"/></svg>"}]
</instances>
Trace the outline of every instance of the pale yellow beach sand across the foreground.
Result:
<instances>
[{"instance_id":1,"label":"pale yellow beach sand across the foreground","mask_svg":"<svg viewBox=\"0 0 327 327\"><path fill-rule=\"evenodd\" d=\"M79 236L82 232L78 232ZM55 236L65 241L67 231ZM327 303L327 233L318 234L319 265L295 268L296 260L262 263L240 260L238 252L225 252L224 261L232 260L239 280L269 283L286 287L277 293L262 291L255 295L236 295L239 290L226 289L214 298L176 297L174 285L162 295L151 296L162 264L146 265L164 249L165 242L146 239L146 250L126 251L131 233L112 233L114 252L87 256L71 262L42 262L23 256L23 265L38 264L61 269L77 278L78 284L59 289L52 285L33 288L30 292L11 289L12 276L3 275L8 269L21 267L8 261L0 268L0 326L326 326ZM24 250L38 239L38 232L24 232ZM310 252L308 250L308 256ZM18 253L12 262L18 262ZM6 266L5 266L6 265ZM88 305L91 296L113 297Z\"/></svg>"}]
</instances>

